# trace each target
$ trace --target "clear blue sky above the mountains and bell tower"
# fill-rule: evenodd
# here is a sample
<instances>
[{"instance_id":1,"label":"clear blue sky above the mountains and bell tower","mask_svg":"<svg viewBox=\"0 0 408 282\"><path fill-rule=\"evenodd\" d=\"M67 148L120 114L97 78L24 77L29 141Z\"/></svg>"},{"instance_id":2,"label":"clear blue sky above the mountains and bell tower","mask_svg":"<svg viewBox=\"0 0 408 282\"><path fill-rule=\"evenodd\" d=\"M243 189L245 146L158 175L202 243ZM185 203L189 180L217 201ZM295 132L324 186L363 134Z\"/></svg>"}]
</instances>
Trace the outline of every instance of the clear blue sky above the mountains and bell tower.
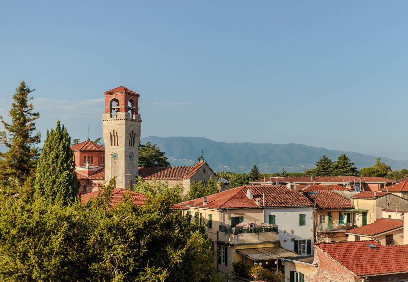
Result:
<instances>
[{"instance_id":1,"label":"clear blue sky above the mountains and bell tower","mask_svg":"<svg viewBox=\"0 0 408 282\"><path fill-rule=\"evenodd\" d=\"M24 79L38 128L102 136L106 90L142 137L302 143L408 159L406 1L0 2L0 114Z\"/></svg>"}]
</instances>

